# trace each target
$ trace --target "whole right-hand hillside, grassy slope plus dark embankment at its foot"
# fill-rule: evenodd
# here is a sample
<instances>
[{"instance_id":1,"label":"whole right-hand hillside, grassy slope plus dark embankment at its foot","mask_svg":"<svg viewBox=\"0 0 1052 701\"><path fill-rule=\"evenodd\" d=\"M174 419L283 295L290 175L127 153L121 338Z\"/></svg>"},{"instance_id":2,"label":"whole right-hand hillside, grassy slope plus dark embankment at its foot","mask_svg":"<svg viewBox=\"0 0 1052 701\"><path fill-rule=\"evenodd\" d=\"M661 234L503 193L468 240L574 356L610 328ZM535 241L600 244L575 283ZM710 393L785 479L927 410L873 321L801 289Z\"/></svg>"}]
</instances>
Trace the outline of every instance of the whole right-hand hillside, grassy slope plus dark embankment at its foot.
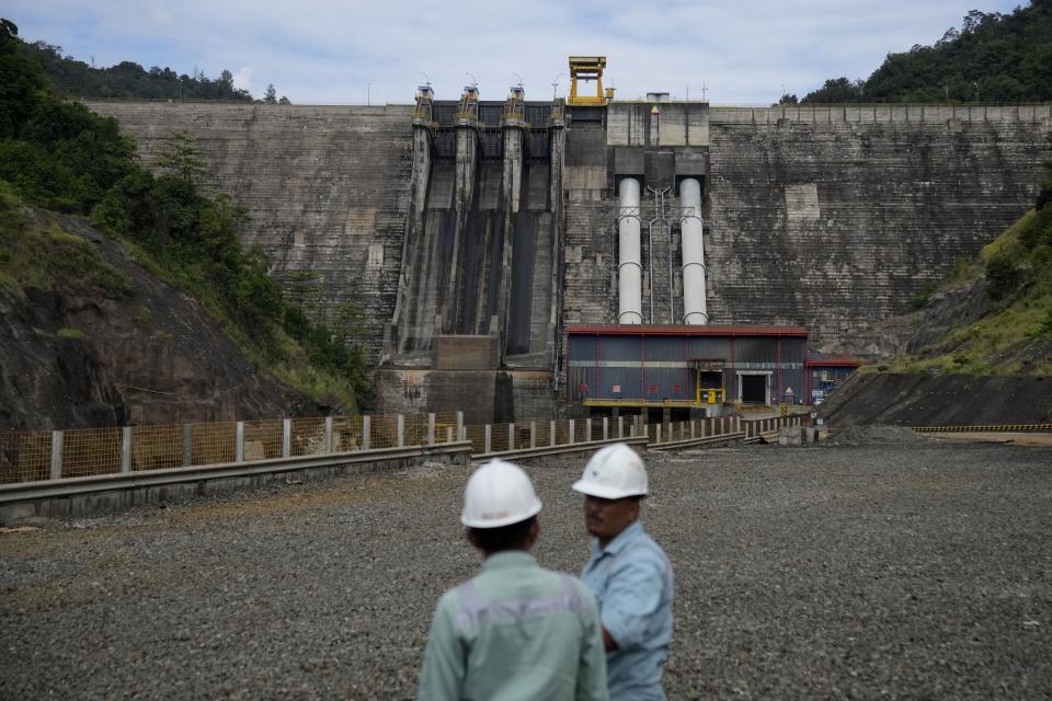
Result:
<instances>
[{"instance_id":1,"label":"whole right-hand hillside, grassy slope plus dark embankment at its foot","mask_svg":"<svg viewBox=\"0 0 1052 701\"><path fill-rule=\"evenodd\" d=\"M1052 422L1052 179L1034 211L915 306L837 348L876 364L822 406L830 423Z\"/></svg>"}]
</instances>

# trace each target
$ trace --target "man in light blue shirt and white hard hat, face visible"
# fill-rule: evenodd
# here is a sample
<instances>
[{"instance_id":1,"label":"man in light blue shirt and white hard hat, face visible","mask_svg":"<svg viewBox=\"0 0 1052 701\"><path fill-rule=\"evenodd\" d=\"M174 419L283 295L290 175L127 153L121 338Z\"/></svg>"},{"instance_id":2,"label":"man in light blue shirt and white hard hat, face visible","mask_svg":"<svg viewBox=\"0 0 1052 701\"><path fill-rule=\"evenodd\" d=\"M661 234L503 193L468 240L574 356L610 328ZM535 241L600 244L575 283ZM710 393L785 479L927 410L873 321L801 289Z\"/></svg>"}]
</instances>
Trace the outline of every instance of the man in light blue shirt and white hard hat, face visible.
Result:
<instances>
[{"instance_id":1,"label":"man in light blue shirt and white hard hat, face visible","mask_svg":"<svg viewBox=\"0 0 1052 701\"><path fill-rule=\"evenodd\" d=\"M643 459L625 444L601 448L573 484L584 494L592 556L581 578L599 602L611 701L663 700L661 673L672 641L672 565L643 531Z\"/></svg>"}]
</instances>

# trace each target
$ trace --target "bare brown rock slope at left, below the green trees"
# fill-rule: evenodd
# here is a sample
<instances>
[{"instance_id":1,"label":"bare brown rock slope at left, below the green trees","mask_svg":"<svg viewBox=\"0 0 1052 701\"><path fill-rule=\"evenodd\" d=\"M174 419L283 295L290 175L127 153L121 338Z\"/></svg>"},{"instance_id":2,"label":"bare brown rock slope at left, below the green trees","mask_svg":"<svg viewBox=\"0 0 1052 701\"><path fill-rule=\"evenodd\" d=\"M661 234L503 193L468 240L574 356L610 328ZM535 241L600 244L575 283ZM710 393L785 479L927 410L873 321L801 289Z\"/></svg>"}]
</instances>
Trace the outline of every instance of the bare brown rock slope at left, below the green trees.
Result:
<instances>
[{"instance_id":1,"label":"bare brown rock slope at left, below the green trees","mask_svg":"<svg viewBox=\"0 0 1052 701\"><path fill-rule=\"evenodd\" d=\"M41 215L31 217L44 223ZM57 223L64 230L53 249L58 255L91 246L119 284L71 276L23 286L21 294L0 286L0 429L319 411L253 369L214 319L118 243L80 220Z\"/></svg>"}]
</instances>

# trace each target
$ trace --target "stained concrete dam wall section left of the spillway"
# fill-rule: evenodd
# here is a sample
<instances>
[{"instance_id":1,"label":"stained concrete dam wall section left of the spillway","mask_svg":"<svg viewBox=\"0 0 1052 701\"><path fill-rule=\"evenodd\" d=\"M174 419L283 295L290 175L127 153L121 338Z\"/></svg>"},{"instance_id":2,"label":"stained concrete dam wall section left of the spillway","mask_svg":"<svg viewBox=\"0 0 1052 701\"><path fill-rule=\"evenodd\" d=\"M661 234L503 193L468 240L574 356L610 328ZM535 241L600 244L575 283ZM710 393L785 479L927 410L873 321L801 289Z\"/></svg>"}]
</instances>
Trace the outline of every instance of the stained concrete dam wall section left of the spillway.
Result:
<instances>
[{"instance_id":1,"label":"stained concrete dam wall section left of the spillway","mask_svg":"<svg viewBox=\"0 0 1052 701\"><path fill-rule=\"evenodd\" d=\"M358 304L379 355L409 210L411 105L87 104L116 117L147 164L173 131L197 137L210 184L248 208L243 242L263 246L281 276L317 275L324 313Z\"/></svg>"}]
</instances>

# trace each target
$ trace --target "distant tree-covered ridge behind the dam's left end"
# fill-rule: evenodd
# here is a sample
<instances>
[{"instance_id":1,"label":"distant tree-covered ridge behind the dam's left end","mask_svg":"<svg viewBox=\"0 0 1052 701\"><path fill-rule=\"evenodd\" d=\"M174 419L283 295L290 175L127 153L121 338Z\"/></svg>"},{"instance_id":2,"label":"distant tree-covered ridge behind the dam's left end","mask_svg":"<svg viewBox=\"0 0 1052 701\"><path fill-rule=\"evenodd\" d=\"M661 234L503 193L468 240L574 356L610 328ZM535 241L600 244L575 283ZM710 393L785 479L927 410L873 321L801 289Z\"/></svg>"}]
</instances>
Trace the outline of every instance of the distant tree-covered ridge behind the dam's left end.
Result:
<instances>
[{"instance_id":1,"label":"distant tree-covered ridge behind the dam's left end","mask_svg":"<svg viewBox=\"0 0 1052 701\"><path fill-rule=\"evenodd\" d=\"M70 97L119 100L230 100L252 102L252 94L233 85L233 74L224 70L210 79L203 71L193 76L180 74L171 68L157 66L146 70L133 61L122 61L108 68L95 68L72 56L65 56L61 46L44 42L20 42L19 54L41 66L52 84ZM268 85L263 102L288 104L288 97L277 97L274 85Z\"/></svg>"}]
</instances>

